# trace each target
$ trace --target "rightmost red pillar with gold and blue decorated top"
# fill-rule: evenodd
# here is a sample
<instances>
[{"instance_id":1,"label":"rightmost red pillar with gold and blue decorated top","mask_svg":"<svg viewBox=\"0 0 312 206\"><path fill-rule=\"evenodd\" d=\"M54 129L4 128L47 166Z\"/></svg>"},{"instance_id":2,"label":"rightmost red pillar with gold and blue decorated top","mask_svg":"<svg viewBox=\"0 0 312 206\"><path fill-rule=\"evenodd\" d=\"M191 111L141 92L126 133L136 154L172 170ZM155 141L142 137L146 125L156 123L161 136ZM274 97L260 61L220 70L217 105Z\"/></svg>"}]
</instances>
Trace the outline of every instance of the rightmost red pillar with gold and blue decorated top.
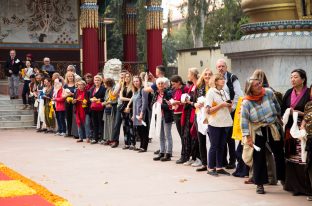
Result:
<instances>
[{"instance_id":1,"label":"rightmost red pillar with gold and blue decorated top","mask_svg":"<svg viewBox=\"0 0 312 206\"><path fill-rule=\"evenodd\" d=\"M161 1L147 1L147 66L155 76L156 66L162 65L162 28L163 9Z\"/></svg>"}]
</instances>

